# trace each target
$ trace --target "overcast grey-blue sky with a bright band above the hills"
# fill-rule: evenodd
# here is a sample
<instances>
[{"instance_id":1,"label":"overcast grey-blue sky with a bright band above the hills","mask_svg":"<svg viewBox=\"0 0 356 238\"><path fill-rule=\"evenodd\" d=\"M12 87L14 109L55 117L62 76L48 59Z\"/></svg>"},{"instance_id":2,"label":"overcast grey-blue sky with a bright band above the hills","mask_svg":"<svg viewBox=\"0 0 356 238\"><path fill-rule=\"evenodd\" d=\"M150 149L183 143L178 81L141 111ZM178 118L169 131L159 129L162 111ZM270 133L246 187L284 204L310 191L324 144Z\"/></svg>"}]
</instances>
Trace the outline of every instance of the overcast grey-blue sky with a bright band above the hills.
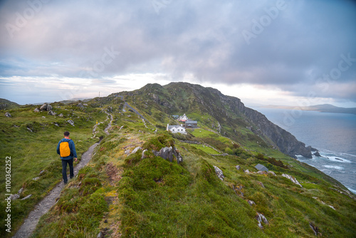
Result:
<instances>
[{"instance_id":1,"label":"overcast grey-blue sky with a bright band above the hills","mask_svg":"<svg viewBox=\"0 0 356 238\"><path fill-rule=\"evenodd\" d=\"M199 83L248 104L356 107L355 1L0 1L0 98Z\"/></svg>"}]
</instances>

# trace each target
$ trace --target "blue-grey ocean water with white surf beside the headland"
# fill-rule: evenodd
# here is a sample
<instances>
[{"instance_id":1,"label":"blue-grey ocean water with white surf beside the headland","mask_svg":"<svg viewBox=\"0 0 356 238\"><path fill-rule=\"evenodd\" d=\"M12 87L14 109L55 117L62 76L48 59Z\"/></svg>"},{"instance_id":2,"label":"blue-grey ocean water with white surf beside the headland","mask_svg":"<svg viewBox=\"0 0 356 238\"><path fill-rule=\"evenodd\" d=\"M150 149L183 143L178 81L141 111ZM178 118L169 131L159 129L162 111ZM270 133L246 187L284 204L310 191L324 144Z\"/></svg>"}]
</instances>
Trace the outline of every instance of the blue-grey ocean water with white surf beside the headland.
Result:
<instances>
[{"instance_id":1,"label":"blue-grey ocean water with white surf beside the headland","mask_svg":"<svg viewBox=\"0 0 356 238\"><path fill-rule=\"evenodd\" d=\"M356 115L305 110L255 108L322 157L297 156L356 194Z\"/></svg>"}]
</instances>

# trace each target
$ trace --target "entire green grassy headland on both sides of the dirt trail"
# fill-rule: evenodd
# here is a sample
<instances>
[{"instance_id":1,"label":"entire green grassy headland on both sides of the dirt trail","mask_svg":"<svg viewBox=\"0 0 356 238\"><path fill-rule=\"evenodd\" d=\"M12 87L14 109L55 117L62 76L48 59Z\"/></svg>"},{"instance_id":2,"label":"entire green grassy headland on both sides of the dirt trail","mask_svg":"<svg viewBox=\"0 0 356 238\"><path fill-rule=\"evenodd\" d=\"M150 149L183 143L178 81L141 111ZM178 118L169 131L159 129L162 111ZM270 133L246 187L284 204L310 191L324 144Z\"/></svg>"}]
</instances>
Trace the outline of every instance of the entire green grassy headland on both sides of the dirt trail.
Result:
<instances>
[{"instance_id":1,"label":"entire green grassy headland on both sides of the dirt trail","mask_svg":"<svg viewBox=\"0 0 356 238\"><path fill-rule=\"evenodd\" d=\"M122 111L124 102L116 95L123 95L153 125L127 108ZM23 187L21 197L33 194L30 200L12 202L11 215L18 221L14 229L61 181L56 144L63 131L70 130L78 155L98 137L103 140L90 163L41 217L33 237L98 237L100 233L106 237L315 237L310 225L318 228L319 236L354 237L355 197L323 172L274 150L266 138L246 128L253 125L244 115L231 108L219 110L224 103L218 99L197 98L187 88L147 85L95 98L85 108L78 103L53 103L54 110L66 118L33 113L31 106L11 110L13 118L0 120L1 155L11 156L14 163L11 191ZM103 133L105 124L101 124L93 138L96 120L107 116L103 110L114 116L110 135ZM188 135L166 132L167 123L177 123L170 115L183 113L199 120L199 128L188 130ZM75 127L66 123L70 118ZM219 121L224 121L220 127ZM152 151L169 146L179 151L183 162L178 164L175 157L169 162ZM147 150L144 156L143 150ZM258 174L254 167L258 163L276 176ZM224 180L217 177L214 166L222 170ZM42 170L46 172L38 175ZM282 174L292 175L303 187ZM40 180L32 180L38 176ZM4 211L5 203L1 206ZM261 222L262 229L258 214L268 220Z\"/></svg>"}]
</instances>

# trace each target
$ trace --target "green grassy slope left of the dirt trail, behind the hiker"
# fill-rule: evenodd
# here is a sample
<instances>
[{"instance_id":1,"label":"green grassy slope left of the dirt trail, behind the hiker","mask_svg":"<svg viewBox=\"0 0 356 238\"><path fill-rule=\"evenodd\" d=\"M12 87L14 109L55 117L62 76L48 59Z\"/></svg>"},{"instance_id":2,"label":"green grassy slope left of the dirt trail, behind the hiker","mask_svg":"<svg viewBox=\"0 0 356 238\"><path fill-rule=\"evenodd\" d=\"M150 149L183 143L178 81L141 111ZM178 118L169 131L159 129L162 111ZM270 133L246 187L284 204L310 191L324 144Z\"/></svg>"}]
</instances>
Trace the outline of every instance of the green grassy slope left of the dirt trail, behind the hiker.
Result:
<instances>
[{"instance_id":1,"label":"green grassy slope left of the dirt trail, behind the hiker","mask_svg":"<svg viewBox=\"0 0 356 238\"><path fill-rule=\"evenodd\" d=\"M58 141L63 138L63 132L70 131L70 138L75 142L80 161L83 152L98 141L98 138L92 138L95 120L101 121L106 118L106 114L100 113L100 109L90 108L93 112L86 114L78 107L76 110L67 111L66 108L73 108L73 106L61 105L61 108L57 108L58 105L52 105L56 113L66 112L66 115L75 115L75 117L60 118L48 115L46 112L34 113L33 109L36 106L33 105L9 110L11 118L6 118L1 113L0 154L4 157L11 157L11 192L6 193L16 194L22 187L23 192L20 198L32 195L28 200L11 202L13 231L19 228L24 217L47 195L48 191L62 180L61 159L56 148ZM69 119L74 121L74 127L66 123ZM58 126L54 125L55 123ZM30 128L32 132L27 128ZM1 160L0 169L5 171L5 160ZM41 171L43 172L40 174ZM34 181L35 177L39 179ZM0 182L5 184L5 177L1 176ZM5 210L4 194L0 195L1 211ZM4 220L5 212L0 214L1 219ZM10 235L5 233L4 229L1 229L0 234L7 237Z\"/></svg>"}]
</instances>

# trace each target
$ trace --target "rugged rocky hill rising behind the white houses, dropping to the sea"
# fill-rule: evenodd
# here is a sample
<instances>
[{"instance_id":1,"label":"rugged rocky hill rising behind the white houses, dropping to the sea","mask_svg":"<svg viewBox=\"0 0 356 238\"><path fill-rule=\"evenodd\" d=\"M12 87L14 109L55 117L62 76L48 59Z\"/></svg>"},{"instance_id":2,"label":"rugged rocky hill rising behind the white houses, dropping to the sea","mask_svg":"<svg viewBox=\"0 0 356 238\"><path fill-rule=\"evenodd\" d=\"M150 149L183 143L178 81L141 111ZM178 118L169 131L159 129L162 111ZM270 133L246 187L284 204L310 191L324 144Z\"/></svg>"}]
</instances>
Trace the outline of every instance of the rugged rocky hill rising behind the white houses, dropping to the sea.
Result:
<instances>
[{"instance_id":1,"label":"rugged rocky hill rising behind the white houses, dropping to the sea","mask_svg":"<svg viewBox=\"0 0 356 238\"><path fill-rule=\"evenodd\" d=\"M127 95L140 97L146 101L141 110L152 114L152 108L147 105L151 102L154 108L167 114L199 113L210 115L209 121L201 121L221 135L237 140L256 140L261 146L277 148L286 155L295 157L303 155L311 158L310 148L298 141L292 134L269 121L265 115L256 110L247 108L239 98L222 94L214 88L190 83L169 83L167 86L147 84L147 86ZM140 107L140 104L137 104ZM254 135L248 135L242 130L250 130ZM233 130L231 130L233 129Z\"/></svg>"}]
</instances>

